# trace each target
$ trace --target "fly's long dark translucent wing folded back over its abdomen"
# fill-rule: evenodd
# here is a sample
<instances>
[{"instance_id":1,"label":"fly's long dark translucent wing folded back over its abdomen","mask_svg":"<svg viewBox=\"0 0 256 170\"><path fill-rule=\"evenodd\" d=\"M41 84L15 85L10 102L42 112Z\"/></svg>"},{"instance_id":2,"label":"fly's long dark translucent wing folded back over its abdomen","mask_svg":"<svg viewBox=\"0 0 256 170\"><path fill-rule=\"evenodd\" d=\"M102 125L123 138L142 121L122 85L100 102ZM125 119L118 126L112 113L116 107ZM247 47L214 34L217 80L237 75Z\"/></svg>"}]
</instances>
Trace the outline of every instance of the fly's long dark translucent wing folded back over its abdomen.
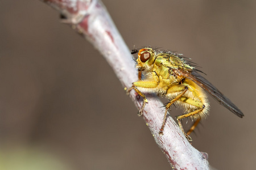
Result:
<instances>
[{"instance_id":1,"label":"fly's long dark translucent wing folded back over its abdomen","mask_svg":"<svg viewBox=\"0 0 256 170\"><path fill-rule=\"evenodd\" d=\"M207 91L210 95L214 97L224 107L229 109L229 111L236 114L238 117L243 117L243 113L230 101L227 97L222 95L220 91L217 90L216 87L214 87L210 82L208 82L207 79L205 79L203 76L201 76L197 71L192 71L192 73L189 73L187 71L178 71L179 74L185 76L188 79L191 79L193 82L195 82L198 86L203 88L205 91Z\"/></svg>"}]
</instances>

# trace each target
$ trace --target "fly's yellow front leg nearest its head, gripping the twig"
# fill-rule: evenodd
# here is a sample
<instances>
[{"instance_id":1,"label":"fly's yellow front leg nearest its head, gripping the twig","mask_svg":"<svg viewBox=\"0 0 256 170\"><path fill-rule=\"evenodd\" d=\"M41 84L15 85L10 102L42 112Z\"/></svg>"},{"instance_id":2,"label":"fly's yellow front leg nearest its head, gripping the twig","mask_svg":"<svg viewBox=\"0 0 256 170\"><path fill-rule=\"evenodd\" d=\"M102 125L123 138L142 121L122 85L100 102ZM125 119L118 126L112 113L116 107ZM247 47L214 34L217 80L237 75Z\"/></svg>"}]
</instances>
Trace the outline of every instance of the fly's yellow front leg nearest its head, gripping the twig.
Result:
<instances>
[{"instance_id":1,"label":"fly's yellow front leg nearest its head, gripping the twig","mask_svg":"<svg viewBox=\"0 0 256 170\"><path fill-rule=\"evenodd\" d=\"M148 88L148 90L150 90L150 88L155 88L157 86L158 86L157 82L150 82L150 81L139 80L138 82L134 82L133 86L131 86L131 88L129 88L127 90L127 93L129 93L131 90L134 89L137 92L137 94L143 98L142 108L139 110L138 116L142 116L143 109L144 109L144 107L145 107L145 105L147 103L146 96L141 91L139 91L138 88L142 87L142 88Z\"/></svg>"}]
</instances>

